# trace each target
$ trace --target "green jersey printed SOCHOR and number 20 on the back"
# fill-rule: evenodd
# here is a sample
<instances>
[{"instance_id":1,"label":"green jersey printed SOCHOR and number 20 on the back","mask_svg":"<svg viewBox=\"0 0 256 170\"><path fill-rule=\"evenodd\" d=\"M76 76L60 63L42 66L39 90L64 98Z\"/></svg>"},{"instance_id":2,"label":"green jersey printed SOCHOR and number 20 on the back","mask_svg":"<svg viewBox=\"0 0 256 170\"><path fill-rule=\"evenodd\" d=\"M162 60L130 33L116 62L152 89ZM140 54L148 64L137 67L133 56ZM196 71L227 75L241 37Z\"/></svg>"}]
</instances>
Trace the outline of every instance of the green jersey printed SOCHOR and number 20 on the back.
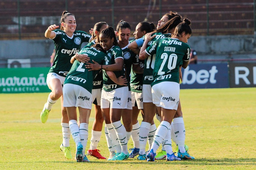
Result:
<instances>
[{"instance_id":1,"label":"green jersey printed SOCHOR and number 20 on the back","mask_svg":"<svg viewBox=\"0 0 256 170\"><path fill-rule=\"evenodd\" d=\"M178 39L164 38L156 40L145 52L156 54L151 86L163 81L179 83L179 66L189 60L188 44Z\"/></svg>"}]
</instances>

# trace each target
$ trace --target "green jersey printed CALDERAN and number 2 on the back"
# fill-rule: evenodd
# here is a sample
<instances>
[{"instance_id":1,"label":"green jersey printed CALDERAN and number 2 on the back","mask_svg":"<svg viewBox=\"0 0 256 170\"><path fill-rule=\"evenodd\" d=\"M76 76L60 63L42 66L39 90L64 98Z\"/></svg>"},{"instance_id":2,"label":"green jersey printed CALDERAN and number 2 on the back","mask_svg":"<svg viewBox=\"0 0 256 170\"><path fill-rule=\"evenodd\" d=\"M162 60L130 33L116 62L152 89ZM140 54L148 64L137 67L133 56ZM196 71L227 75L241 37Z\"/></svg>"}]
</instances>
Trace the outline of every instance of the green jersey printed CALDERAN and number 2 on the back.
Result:
<instances>
[{"instance_id":1,"label":"green jersey printed CALDERAN and number 2 on the back","mask_svg":"<svg viewBox=\"0 0 256 170\"><path fill-rule=\"evenodd\" d=\"M106 65L110 61L110 57L106 53L103 53L94 47L83 48L78 54L87 54L91 58L90 63L93 63L92 60L94 60L99 64ZM85 65L86 63L80 63L78 60L75 60L65 78L64 84L70 83L79 85L92 93L93 80L99 73L99 70L88 71L90 69L85 68Z\"/></svg>"}]
</instances>

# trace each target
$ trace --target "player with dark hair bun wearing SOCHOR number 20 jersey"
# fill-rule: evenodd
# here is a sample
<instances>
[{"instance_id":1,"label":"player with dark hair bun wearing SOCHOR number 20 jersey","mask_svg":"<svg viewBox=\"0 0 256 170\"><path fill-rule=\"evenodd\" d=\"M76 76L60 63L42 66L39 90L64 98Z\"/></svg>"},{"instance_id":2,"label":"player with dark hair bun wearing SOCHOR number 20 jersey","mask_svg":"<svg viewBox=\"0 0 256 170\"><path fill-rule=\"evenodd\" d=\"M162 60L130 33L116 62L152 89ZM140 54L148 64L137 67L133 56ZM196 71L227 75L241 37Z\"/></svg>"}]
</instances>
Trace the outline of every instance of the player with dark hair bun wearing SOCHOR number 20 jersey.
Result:
<instances>
[{"instance_id":1,"label":"player with dark hair bun wearing SOCHOR number 20 jersey","mask_svg":"<svg viewBox=\"0 0 256 170\"><path fill-rule=\"evenodd\" d=\"M176 17L174 17L176 18ZM173 18L173 19L174 19ZM174 30L171 38L158 39L148 48L148 42L156 35L152 33L145 36L145 41L139 54L140 59L145 59L156 54L152 86L153 103L161 107L162 121L158 126L151 150L147 153L147 161L155 160L155 152L169 134L171 122L178 108L179 102L179 67L182 65L186 69L189 62L190 47L187 43L192 31L190 21L184 18ZM168 87L168 88L167 88ZM178 157L174 153L167 152L166 160L181 160L190 158L187 152L178 152Z\"/></svg>"}]
</instances>

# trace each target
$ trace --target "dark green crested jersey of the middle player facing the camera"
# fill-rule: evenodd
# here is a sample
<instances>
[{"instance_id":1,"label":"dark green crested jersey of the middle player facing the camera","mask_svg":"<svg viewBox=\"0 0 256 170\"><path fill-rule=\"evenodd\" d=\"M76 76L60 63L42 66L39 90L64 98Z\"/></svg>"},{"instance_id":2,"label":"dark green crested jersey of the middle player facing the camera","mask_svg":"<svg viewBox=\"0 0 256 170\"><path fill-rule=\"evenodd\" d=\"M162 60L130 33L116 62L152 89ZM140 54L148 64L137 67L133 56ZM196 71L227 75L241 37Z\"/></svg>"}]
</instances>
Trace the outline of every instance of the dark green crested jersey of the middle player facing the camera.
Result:
<instances>
[{"instance_id":1,"label":"dark green crested jersey of the middle player facing the camera","mask_svg":"<svg viewBox=\"0 0 256 170\"><path fill-rule=\"evenodd\" d=\"M130 42L128 43L128 45L130 44ZM126 78L128 81L128 89L129 91L130 89L130 74L131 74L131 68L132 68L132 64L138 64L139 63L139 56L136 55L133 51L131 51L128 48L128 45L124 48L122 48L123 50L123 56L124 56L124 66L125 66L125 74L126 74Z\"/></svg>"}]
</instances>

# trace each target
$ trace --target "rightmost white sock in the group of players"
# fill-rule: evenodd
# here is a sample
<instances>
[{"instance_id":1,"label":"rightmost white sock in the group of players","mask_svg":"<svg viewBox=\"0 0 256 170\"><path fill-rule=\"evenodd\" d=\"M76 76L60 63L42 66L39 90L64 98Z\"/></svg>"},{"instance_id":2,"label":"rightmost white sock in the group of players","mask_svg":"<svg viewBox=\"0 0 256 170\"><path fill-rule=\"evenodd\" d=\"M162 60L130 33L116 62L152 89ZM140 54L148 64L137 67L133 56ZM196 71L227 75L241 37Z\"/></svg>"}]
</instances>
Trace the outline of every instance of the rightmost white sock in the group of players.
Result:
<instances>
[{"instance_id":1,"label":"rightmost white sock in the group of players","mask_svg":"<svg viewBox=\"0 0 256 170\"><path fill-rule=\"evenodd\" d=\"M173 119L173 129L176 133L176 141L181 153L185 153L185 125L183 117L177 117Z\"/></svg>"}]
</instances>

